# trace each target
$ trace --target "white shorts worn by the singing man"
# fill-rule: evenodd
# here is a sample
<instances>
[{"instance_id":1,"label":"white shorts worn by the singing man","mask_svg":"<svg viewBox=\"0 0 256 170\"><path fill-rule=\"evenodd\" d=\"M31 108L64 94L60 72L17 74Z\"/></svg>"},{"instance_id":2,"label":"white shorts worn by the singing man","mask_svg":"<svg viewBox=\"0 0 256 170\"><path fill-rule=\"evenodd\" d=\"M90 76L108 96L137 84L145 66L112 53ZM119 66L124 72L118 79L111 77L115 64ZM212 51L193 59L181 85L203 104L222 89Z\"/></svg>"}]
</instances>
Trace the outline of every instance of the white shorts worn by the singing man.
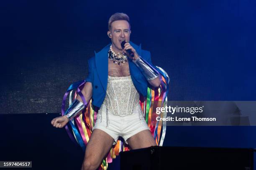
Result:
<instances>
[{"instance_id":1,"label":"white shorts worn by the singing man","mask_svg":"<svg viewBox=\"0 0 256 170\"><path fill-rule=\"evenodd\" d=\"M101 112L101 118L96 120L93 130L100 129L105 133L108 133L115 141L113 145L116 144L119 136L121 136L125 143L128 138L141 132L142 130L149 130L148 125L145 120L139 119L140 106L134 110L131 115L119 116L113 115L111 112L108 112L108 126L107 126L107 117L106 112Z\"/></svg>"}]
</instances>

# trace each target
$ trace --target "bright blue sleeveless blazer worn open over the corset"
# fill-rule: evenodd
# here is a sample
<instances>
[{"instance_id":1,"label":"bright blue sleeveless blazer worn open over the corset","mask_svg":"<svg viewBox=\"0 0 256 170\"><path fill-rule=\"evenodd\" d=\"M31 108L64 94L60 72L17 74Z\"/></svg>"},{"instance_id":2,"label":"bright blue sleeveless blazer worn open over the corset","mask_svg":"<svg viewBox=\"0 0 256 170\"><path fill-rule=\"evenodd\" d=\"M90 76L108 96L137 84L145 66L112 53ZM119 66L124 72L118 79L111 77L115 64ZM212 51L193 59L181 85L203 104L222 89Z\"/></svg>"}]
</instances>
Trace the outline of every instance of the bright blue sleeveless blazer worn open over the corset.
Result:
<instances>
[{"instance_id":1,"label":"bright blue sleeveless blazer worn open over the corset","mask_svg":"<svg viewBox=\"0 0 256 170\"><path fill-rule=\"evenodd\" d=\"M138 46L131 41L130 44L135 48L138 55L152 65L149 51L141 50L141 45ZM88 60L89 75L86 78L86 81L92 83L92 104L97 107L102 105L106 95L108 84L108 50L110 45L111 43L104 47L100 52L95 52L95 56ZM128 64L134 86L139 93L146 96L148 81L130 59L128 59Z\"/></svg>"}]
</instances>

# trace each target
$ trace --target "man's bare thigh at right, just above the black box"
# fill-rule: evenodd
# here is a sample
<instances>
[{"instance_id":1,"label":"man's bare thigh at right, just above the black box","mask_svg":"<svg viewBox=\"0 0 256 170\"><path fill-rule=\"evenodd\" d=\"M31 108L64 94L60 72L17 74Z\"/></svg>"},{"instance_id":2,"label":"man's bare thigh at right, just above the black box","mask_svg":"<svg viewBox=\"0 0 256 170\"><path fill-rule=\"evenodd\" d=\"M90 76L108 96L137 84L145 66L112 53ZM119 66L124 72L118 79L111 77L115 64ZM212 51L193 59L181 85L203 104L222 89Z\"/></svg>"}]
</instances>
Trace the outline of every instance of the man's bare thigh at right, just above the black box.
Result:
<instances>
[{"instance_id":1,"label":"man's bare thigh at right, just above the black box","mask_svg":"<svg viewBox=\"0 0 256 170\"><path fill-rule=\"evenodd\" d=\"M130 145L131 149L140 149L156 146L156 141L154 140L149 130L143 130L131 136L130 138L128 138L127 143Z\"/></svg>"}]
</instances>

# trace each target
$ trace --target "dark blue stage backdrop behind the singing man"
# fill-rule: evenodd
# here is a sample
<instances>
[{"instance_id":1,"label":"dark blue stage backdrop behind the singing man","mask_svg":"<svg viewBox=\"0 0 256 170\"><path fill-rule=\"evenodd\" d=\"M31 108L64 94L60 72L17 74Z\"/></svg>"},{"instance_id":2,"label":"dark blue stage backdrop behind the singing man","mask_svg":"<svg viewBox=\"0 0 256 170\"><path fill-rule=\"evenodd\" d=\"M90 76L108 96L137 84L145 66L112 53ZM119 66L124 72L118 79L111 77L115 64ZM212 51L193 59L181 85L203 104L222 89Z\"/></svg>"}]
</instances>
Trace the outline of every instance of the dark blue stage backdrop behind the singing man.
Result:
<instances>
[{"instance_id":1,"label":"dark blue stage backdrop behind the singing man","mask_svg":"<svg viewBox=\"0 0 256 170\"><path fill-rule=\"evenodd\" d=\"M0 112L60 112L67 87L110 42L115 12L169 74L168 100L256 100L255 11L253 0L3 1ZM164 145L255 148L256 128L168 127Z\"/></svg>"}]
</instances>

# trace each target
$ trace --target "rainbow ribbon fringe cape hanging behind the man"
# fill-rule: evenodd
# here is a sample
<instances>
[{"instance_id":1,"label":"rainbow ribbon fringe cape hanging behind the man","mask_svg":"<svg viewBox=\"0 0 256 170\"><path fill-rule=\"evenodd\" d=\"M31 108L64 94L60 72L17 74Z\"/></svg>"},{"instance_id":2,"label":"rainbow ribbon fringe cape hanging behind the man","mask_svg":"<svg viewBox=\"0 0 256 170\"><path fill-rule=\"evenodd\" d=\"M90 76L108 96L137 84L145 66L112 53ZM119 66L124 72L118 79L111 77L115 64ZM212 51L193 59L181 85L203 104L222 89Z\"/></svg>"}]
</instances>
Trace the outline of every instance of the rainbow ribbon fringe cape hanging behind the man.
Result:
<instances>
[{"instance_id":1,"label":"rainbow ribbon fringe cape hanging behind the man","mask_svg":"<svg viewBox=\"0 0 256 170\"><path fill-rule=\"evenodd\" d=\"M156 140L156 144L159 146L163 145L164 137L166 134L166 122L156 121L156 117L166 117L166 112L161 112L160 115L156 114L156 107L165 107L167 102L167 92L169 86L169 77L167 73L161 69L161 67L156 67L156 69L161 74L161 85L158 88L148 87L148 93L146 97L140 96L140 105L144 113L145 120L148 127L151 130L151 134ZM85 81L75 82L69 86L67 92L65 93L62 100L61 114L64 115L64 109L66 104L67 95L69 95L69 105L72 103L72 93L75 92L75 96L78 93L81 98L84 97L80 91L84 86ZM67 133L74 143L78 143L82 150L85 151L86 145L90 140L92 134L92 129L95 125L97 119L98 107L92 105L90 101L87 104L86 109L82 111L82 114L77 115L74 119L70 120L65 126ZM112 160L119 155L121 151L128 151L128 145L124 143L123 140L118 140L116 145L113 145L108 156L102 161L99 170L107 170L108 163L112 163Z\"/></svg>"}]
</instances>

